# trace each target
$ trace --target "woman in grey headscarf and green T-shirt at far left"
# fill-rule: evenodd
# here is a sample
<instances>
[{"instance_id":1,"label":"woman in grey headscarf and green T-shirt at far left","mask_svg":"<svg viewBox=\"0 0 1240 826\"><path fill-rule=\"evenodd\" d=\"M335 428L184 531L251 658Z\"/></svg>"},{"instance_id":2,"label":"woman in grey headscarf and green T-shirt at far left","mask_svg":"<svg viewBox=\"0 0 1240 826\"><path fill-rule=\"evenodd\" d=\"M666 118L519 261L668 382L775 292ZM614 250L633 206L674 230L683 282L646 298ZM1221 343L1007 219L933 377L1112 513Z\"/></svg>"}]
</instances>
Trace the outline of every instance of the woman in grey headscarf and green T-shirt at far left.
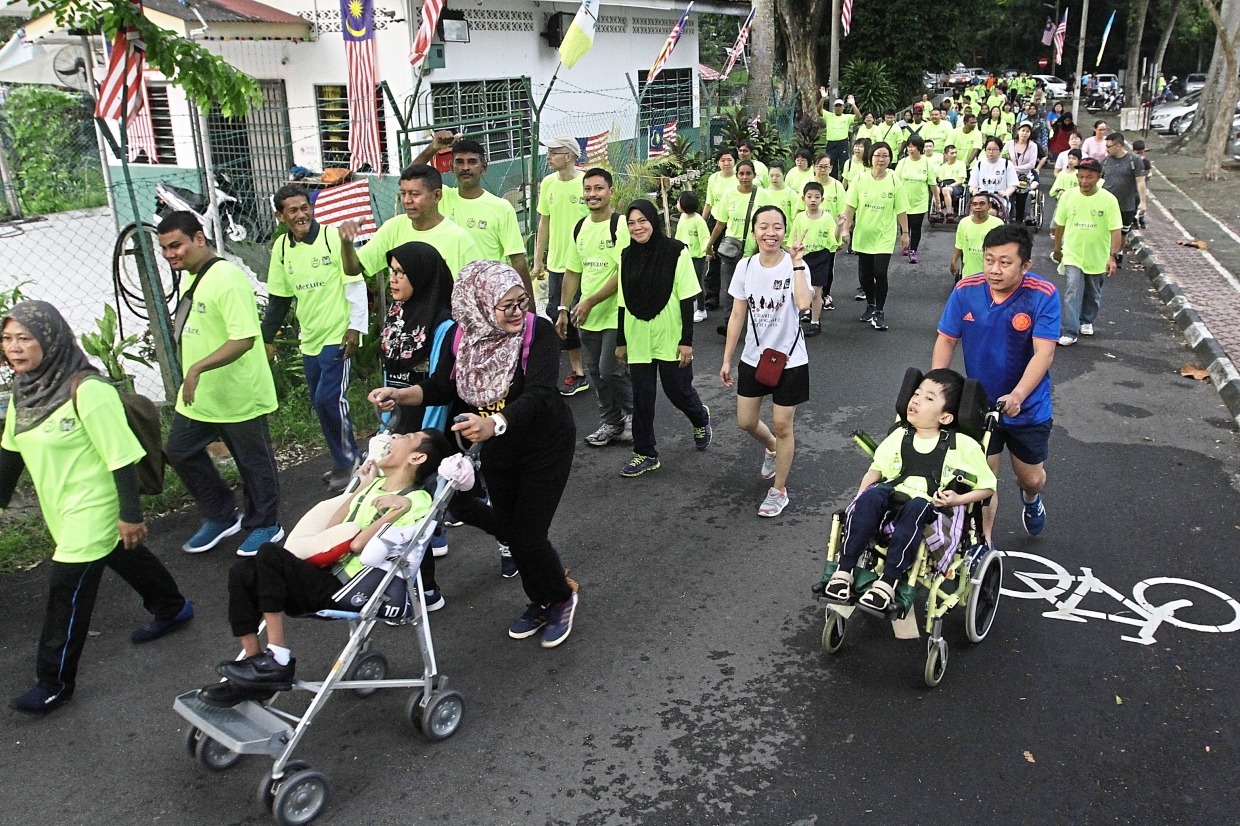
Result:
<instances>
[{"instance_id":1,"label":"woman in grey headscarf and green T-shirt at far left","mask_svg":"<svg viewBox=\"0 0 1240 826\"><path fill-rule=\"evenodd\" d=\"M38 683L9 704L36 714L69 701L104 568L139 593L155 618L130 639L149 642L193 616L172 575L146 549L136 461L146 455L117 389L99 377L73 331L46 301L21 301L0 322L5 363L16 373L0 438L0 513L30 470L56 541Z\"/></svg>"}]
</instances>

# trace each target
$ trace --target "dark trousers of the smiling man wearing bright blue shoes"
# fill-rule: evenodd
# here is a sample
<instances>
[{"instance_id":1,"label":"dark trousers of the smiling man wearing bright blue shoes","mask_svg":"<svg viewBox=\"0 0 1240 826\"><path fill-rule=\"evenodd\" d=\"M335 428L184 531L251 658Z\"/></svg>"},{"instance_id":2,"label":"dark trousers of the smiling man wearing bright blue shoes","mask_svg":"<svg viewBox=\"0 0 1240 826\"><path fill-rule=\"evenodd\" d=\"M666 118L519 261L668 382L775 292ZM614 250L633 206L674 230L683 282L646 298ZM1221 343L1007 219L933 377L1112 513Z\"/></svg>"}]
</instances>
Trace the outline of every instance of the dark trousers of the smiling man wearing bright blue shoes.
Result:
<instances>
[{"instance_id":1,"label":"dark trousers of the smiling man wearing bright blue shoes","mask_svg":"<svg viewBox=\"0 0 1240 826\"><path fill-rule=\"evenodd\" d=\"M238 387L237 392L246 392L246 388ZM167 454L172 470L190 489L190 495L197 500L202 518L231 522L237 510L232 490L207 454L207 445L217 439L228 445L237 461L237 470L241 471L246 499L242 527L253 531L275 525L279 521L280 480L275 471L275 454L272 450L267 417L224 423L198 422L175 413L164 453Z\"/></svg>"}]
</instances>

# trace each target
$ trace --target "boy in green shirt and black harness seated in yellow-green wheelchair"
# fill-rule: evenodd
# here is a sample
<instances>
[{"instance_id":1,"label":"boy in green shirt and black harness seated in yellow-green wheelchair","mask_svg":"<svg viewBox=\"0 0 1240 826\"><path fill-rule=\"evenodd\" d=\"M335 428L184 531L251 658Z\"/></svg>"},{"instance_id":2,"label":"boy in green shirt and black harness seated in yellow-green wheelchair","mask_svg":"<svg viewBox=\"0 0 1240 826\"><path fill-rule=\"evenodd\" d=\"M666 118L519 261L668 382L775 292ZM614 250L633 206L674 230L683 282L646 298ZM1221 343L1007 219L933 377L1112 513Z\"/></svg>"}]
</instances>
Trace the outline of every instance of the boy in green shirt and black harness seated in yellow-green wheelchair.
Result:
<instances>
[{"instance_id":1,"label":"boy in green shirt and black harness seated in yellow-green wheelchair","mask_svg":"<svg viewBox=\"0 0 1240 826\"><path fill-rule=\"evenodd\" d=\"M963 387L963 377L954 370L926 373L909 399L904 420L874 450L857 497L844 511L843 552L823 589L827 602L852 602L853 569L875 535L890 526L882 577L857 605L882 615L893 613L895 585L916 561L923 528L949 508L967 507L994 492L994 473L982 446L952 427ZM946 477L970 479L972 490L944 486Z\"/></svg>"}]
</instances>

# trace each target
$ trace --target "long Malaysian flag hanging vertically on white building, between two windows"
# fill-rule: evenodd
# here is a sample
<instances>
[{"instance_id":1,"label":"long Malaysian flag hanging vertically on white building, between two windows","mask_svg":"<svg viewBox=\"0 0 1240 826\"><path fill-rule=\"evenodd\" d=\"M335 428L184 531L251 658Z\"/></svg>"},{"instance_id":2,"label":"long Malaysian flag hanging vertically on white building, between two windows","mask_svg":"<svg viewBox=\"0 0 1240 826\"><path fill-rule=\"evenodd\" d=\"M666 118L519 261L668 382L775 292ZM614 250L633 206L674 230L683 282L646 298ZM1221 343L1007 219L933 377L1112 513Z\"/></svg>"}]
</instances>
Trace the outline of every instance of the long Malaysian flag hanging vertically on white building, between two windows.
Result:
<instances>
[{"instance_id":1,"label":"long Malaysian flag hanging vertically on white building, between two windows","mask_svg":"<svg viewBox=\"0 0 1240 826\"><path fill-rule=\"evenodd\" d=\"M383 171L379 151L379 115L374 89L374 9L372 0L340 0L340 31L345 36L348 62L348 154L350 169L370 166Z\"/></svg>"}]
</instances>

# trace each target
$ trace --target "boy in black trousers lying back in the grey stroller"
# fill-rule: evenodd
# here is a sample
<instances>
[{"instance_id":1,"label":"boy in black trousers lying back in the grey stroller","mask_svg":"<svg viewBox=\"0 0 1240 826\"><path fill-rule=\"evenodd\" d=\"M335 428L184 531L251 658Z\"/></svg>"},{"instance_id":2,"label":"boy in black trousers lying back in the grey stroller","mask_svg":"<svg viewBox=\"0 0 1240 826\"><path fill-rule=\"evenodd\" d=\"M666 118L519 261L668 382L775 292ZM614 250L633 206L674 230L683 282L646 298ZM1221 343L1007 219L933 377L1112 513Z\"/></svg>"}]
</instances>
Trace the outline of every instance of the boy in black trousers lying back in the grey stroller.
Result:
<instances>
[{"instance_id":1,"label":"boy in black trousers lying back in the grey stroller","mask_svg":"<svg viewBox=\"0 0 1240 826\"><path fill-rule=\"evenodd\" d=\"M224 681L203 687L200 698L227 707L288 691L296 660L285 641L284 613L360 610L384 574L386 553L370 558L373 554L367 544L384 527L414 526L430 512L433 499L424 485L451 453L440 430L393 435L387 449L362 466L357 491L347 499L339 497L343 504L336 507L325 530L301 543L314 546L317 538L317 553L311 556L295 544L295 530L286 544L296 547L298 553L268 542L255 556L237 562L228 574L228 621L233 635L241 637L246 657L216 666ZM383 476L378 475L381 470ZM382 542L372 547L379 546ZM404 580L393 578L388 597L391 604L383 606L381 615L404 616L409 610ZM263 620L265 650L258 639Z\"/></svg>"}]
</instances>

